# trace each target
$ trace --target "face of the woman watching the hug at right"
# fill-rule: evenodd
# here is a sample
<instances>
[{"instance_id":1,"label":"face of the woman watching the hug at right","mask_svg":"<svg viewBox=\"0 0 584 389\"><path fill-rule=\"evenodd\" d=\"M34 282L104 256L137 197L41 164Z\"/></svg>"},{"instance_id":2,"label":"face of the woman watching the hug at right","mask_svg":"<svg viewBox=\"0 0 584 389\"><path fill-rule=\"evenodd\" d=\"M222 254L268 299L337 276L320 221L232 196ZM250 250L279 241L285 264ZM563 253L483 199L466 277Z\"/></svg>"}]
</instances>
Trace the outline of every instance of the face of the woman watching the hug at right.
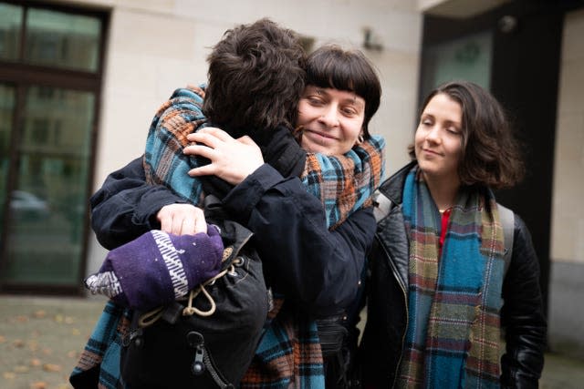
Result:
<instances>
[{"instance_id":1,"label":"face of the woman watching the hug at right","mask_svg":"<svg viewBox=\"0 0 584 389\"><path fill-rule=\"evenodd\" d=\"M461 105L442 93L432 97L414 138L416 159L426 179L458 180L462 135Z\"/></svg>"}]
</instances>

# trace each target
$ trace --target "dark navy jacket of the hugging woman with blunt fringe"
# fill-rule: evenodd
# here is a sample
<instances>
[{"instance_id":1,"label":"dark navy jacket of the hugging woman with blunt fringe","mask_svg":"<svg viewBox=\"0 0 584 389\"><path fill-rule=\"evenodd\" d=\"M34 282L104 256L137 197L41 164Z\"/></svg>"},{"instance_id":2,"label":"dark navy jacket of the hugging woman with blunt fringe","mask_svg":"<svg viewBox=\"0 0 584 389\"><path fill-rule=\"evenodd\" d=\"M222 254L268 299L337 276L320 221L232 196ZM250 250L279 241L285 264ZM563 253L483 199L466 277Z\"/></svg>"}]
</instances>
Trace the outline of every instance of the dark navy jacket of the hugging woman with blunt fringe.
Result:
<instances>
[{"instance_id":1,"label":"dark navy jacket of the hugging woman with blunt fringe","mask_svg":"<svg viewBox=\"0 0 584 389\"><path fill-rule=\"evenodd\" d=\"M163 186L146 184L141 158L114 171L91 197L91 225L111 250L160 228L164 206L186 202ZM372 210L359 210L329 231L320 201L297 178L265 164L223 199L235 221L255 233L266 282L314 317L337 315L360 288L365 253L375 230Z\"/></svg>"}]
</instances>

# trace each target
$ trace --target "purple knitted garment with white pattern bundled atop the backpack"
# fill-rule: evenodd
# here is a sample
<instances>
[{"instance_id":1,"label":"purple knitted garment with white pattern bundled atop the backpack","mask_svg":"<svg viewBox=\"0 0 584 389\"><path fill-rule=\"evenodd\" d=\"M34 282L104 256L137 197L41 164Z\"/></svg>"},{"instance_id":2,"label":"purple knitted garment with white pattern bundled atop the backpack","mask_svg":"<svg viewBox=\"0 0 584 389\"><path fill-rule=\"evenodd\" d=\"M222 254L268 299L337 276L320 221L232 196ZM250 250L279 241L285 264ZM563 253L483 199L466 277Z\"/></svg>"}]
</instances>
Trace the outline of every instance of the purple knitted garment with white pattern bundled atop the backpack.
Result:
<instances>
[{"instance_id":1,"label":"purple knitted garment with white pattern bundled atop the backpack","mask_svg":"<svg viewBox=\"0 0 584 389\"><path fill-rule=\"evenodd\" d=\"M172 302L216 275L223 241L217 227L207 233L172 235L151 230L108 253L85 284L122 306L137 310Z\"/></svg>"}]
</instances>

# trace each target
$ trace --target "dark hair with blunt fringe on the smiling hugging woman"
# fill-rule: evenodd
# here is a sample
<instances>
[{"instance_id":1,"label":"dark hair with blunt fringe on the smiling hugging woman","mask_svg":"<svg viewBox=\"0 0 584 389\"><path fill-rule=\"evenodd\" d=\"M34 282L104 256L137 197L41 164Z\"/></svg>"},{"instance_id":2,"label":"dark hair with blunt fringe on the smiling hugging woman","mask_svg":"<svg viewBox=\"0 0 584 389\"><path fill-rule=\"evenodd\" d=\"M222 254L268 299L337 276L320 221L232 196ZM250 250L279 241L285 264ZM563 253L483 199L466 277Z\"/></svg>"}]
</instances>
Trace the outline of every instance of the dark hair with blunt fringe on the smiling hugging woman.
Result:
<instances>
[{"instance_id":1,"label":"dark hair with blunt fringe on the smiling hugging woman","mask_svg":"<svg viewBox=\"0 0 584 389\"><path fill-rule=\"evenodd\" d=\"M369 122L380 107L381 82L360 50L321 46L307 59L307 85L345 90L365 100L363 138L370 138Z\"/></svg>"}]
</instances>

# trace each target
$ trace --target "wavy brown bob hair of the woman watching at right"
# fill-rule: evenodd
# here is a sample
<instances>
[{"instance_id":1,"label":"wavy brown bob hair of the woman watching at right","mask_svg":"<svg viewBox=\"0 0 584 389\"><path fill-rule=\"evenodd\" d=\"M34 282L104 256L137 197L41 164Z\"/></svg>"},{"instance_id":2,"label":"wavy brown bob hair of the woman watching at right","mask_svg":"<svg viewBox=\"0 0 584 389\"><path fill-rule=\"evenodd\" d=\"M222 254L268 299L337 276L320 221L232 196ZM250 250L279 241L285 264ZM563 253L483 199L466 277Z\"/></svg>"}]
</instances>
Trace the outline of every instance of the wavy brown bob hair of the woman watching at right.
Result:
<instances>
[{"instance_id":1,"label":"wavy brown bob hair of the woman watching at right","mask_svg":"<svg viewBox=\"0 0 584 389\"><path fill-rule=\"evenodd\" d=\"M462 107L462 155L458 166L461 182L501 189L523 179L525 164L519 143L495 97L472 82L453 81L436 87L424 100L420 112L439 94ZM409 152L415 159L413 145Z\"/></svg>"}]
</instances>

